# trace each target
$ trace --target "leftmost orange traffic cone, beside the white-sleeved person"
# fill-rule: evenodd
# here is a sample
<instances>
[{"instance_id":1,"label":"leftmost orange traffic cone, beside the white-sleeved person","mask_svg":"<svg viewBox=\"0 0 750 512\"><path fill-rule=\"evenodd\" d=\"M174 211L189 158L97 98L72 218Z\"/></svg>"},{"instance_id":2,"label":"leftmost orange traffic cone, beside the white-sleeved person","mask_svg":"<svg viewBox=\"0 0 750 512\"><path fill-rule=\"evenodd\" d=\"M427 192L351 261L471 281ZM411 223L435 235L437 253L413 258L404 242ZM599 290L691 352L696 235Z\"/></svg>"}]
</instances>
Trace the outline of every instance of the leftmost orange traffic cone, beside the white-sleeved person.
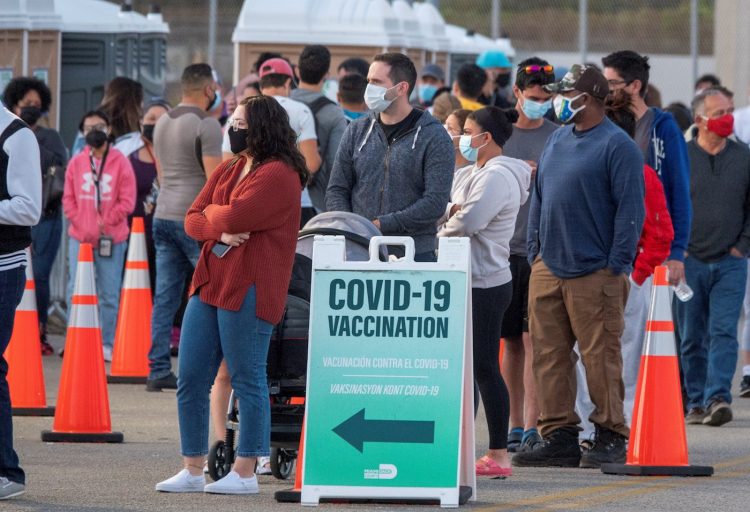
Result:
<instances>
[{"instance_id":1,"label":"leftmost orange traffic cone, beside the white-sleeved person","mask_svg":"<svg viewBox=\"0 0 750 512\"><path fill-rule=\"evenodd\" d=\"M26 289L16 308L13 335L5 359L8 361L8 386L14 416L52 416L44 392L42 352L39 345L39 315L36 311L36 286L31 268L31 251L26 250Z\"/></svg>"}]
</instances>

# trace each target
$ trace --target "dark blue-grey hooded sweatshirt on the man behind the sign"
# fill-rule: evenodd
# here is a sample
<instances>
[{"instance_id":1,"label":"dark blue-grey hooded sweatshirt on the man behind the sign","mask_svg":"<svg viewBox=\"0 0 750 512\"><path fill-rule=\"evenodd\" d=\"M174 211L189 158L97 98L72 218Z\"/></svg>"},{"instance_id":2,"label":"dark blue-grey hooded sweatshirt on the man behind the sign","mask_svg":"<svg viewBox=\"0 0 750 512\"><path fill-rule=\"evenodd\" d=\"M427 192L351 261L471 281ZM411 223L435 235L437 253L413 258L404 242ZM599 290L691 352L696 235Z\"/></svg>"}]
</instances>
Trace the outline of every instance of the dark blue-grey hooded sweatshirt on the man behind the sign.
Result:
<instances>
[{"instance_id":1,"label":"dark blue-grey hooded sweatshirt on the man behind the sign","mask_svg":"<svg viewBox=\"0 0 750 512\"><path fill-rule=\"evenodd\" d=\"M377 116L361 117L344 132L326 208L378 219L384 235L412 237L417 253L434 251L437 220L453 181L451 138L425 112L412 130L388 145Z\"/></svg>"}]
</instances>

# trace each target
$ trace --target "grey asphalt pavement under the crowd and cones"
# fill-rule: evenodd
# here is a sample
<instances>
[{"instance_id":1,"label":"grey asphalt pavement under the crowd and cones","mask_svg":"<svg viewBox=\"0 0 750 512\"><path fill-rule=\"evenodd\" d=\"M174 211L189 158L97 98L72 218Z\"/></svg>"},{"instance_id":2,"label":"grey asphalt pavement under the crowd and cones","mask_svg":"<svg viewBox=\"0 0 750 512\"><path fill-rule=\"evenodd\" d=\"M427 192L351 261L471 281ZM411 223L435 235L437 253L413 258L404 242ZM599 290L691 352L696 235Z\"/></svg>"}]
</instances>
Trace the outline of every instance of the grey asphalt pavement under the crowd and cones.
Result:
<instances>
[{"instance_id":1,"label":"grey asphalt pavement under the crowd and cones","mask_svg":"<svg viewBox=\"0 0 750 512\"><path fill-rule=\"evenodd\" d=\"M62 337L51 340L55 346ZM54 405L62 360L44 358L47 399ZM739 375L739 373L738 373ZM735 381L738 379L735 378ZM737 383L737 382L736 382ZM736 384L735 383L735 384ZM737 390L735 389L735 396ZM154 484L180 469L174 391L148 393L145 385L110 384L113 430L122 444L58 444L41 441L52 418L15 417L15 445L27 472L27 492L0 502L0 511L202 511L299 510L279 504L274 492L291 481L259 477L260 494L216 496L163 494ZM735 419L719 428L688 426L690 462L711 465L708 478L621 477L599 470L514 468L512 477L480 478L472 510L744 511L750 506L750 399L736 398ZM660 435L668 436L669 432ZM487 446L487 427L477 418L477 454ZM430 461L425 460L425 465ZM326 503L320 509L427 510L425 505Z\"/></svg>"}]
</instances>

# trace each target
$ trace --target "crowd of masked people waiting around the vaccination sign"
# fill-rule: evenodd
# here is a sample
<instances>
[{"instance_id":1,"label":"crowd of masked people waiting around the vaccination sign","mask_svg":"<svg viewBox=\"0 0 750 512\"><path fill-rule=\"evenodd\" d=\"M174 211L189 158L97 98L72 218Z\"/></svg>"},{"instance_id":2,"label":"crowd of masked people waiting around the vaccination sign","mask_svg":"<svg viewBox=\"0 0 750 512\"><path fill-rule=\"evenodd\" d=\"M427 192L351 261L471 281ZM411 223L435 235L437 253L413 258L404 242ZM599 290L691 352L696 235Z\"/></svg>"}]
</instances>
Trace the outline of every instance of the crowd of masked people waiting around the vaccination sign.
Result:
<instances>
[{"instance_id":1,"label":"crowd of masked people waiting around the vaccination sign","mask_svg":"<svg viewBox=\"0 0 750 512\"><path fill-rule=\"evenodd\" d=\"M648 58L632 51L565 70L489 51L452 82L437 64L418 71L383 53L341 63L334 101L329 50L293 57L260 55L228 91L192 64L174 107L115 78L82 116L70 158L45 126L43 82L15 78L3 93L0 352L30 245L40 350L52 353L49 276L64 215L68 303L90 243L111 360L129 225L144 217L146 389L177 390L184 466L157 490L253 494L255 475L270 472L266 354L297 231L324 211L412 237L416 261L437 260L438 237L469 238L475 410L481 399L489 431L478 475L624 462L657 265L692 295L673 303L686 422L732 420L743 299L750 313L750 107L735 113L718 78L701 77L689 107L662 110ZM740 396L750 397L745 325ZM2 499L25 481L0 363ZM206 484L209 423L220 438L232 389L237 460Z\"/></svg>"}]
</instances>

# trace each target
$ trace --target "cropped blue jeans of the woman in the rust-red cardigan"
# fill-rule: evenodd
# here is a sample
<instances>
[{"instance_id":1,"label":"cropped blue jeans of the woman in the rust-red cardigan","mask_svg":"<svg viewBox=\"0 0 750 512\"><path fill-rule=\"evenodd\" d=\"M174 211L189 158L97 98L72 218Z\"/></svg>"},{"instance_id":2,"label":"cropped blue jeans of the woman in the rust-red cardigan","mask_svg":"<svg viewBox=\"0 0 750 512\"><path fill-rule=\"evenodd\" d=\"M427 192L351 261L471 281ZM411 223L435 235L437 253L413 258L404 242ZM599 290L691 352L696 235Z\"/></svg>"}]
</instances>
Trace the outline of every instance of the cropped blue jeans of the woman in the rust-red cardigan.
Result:
<instances>
[{"instance_id":1,"label":"cropped blue jeans of the woman in the rust-red cardigan","mask_svg":"<svg viewBox=\"0 0 750 512\"><path fill-rule=\"evenodd\" d=\"M177 411L182 455L208 453L209 392L222 358L239 399L240 439L237 455L268 455L271 405L266 359L273 325L255 316L255 287L239 311L204 303L198 295L188 302L180 337Z\"/></svg>"}]
</instances>

